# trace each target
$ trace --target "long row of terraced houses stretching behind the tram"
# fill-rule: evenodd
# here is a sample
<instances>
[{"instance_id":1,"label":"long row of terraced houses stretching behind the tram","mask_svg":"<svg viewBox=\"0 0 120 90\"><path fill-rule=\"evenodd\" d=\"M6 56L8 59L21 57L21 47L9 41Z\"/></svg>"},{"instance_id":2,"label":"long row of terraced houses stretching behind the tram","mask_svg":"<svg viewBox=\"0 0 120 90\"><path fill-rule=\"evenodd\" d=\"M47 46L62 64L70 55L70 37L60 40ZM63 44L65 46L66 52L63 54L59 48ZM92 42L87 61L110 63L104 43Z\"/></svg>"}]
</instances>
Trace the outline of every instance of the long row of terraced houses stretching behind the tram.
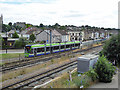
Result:
<instances>
[{"instance_id":1,"label":"long row of terraced houses stretching behind the tram","mask_svg":"<svg viewBox=\"0 0 120 90\"><path fill-rule=\"evenodd\" d=\"M85 40L94 40L100 38L109 38L111 34L117 34L117 30L104 30L104 29L82 29L80 27L67 27L67 30L59 30L59 29L46 29L42 30L37 27L26 28L21 32L19 30L10 30L7 33L8 37L8 45L12 47L14 42L18 40L18 38L12 38L12 35L18 33L19 38L24 37L29 39L31 34L36 36L35 42L44 41L45 43L51 42L68 42L68 41L85 41ZM51 32L50 32L51 31ZM0 33L1 36L5 39L6 34Z\"/></svg>"}]
</instances>

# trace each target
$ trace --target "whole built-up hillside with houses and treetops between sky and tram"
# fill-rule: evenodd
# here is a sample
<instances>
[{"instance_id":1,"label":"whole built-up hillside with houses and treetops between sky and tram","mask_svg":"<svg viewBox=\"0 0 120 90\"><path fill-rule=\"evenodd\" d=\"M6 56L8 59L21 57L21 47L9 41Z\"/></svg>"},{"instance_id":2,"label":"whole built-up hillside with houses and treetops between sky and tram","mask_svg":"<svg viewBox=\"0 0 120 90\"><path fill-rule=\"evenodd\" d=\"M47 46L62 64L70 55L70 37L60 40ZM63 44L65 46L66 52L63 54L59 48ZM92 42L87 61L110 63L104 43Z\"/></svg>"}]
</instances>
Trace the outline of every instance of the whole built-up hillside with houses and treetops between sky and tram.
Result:
<instances>
[{"instance_id":1,"label":"whole built-up hillside with houses and treetops between sky and tram","mask_svg":"<svg viewBox=\"0 0 120 90\"><path fill-rule=\"evenodd\" d=\"M12 24L3 24L3 16L1 15L0 36L2 37L3 48L15 48L15 43L22 38L25 44L29 43L57 43L69 41L86 41L109 38L118 34L118 29L103 28L89 25L32 25L26 22L16 22ZM34 41L30 40L30 35L34 35ZM17 36L16 36L17 35ZM51 39L51 41L50 41ZM24 45L23 45L24 46ZM17 47L16 47L17 48ZM21 47L22 48L22 47Z\"/></svg>"}]
</instances>

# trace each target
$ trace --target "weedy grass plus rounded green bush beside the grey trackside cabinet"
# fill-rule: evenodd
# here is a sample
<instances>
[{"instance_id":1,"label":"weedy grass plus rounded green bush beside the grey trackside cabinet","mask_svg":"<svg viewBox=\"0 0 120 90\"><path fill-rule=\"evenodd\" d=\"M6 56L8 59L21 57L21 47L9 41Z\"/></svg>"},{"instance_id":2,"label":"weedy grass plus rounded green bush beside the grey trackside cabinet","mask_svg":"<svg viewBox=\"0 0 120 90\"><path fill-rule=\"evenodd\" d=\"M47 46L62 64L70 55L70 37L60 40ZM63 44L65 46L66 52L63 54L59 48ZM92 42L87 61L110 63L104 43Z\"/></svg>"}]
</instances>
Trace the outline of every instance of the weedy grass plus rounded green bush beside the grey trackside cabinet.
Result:
<instances>
[{"instance_id":1,"label":"weedy grass plus rounded green bush beside the grey trackside cabinet","mask_svg":"<svg viewBox=\"0 0 120 90\"><path fill-rule=\"evenodd\" d=\"M69 73L61 76L56 81L51 82L43 88L88 88L90 85L96 82L111 82L112 77L115 74L116 68L110 63L106 57L99 57L94 68L90 68L88 72L78 73L75 71L72 73L72 81L69 78Z\"/></svg>"}]
</instances>

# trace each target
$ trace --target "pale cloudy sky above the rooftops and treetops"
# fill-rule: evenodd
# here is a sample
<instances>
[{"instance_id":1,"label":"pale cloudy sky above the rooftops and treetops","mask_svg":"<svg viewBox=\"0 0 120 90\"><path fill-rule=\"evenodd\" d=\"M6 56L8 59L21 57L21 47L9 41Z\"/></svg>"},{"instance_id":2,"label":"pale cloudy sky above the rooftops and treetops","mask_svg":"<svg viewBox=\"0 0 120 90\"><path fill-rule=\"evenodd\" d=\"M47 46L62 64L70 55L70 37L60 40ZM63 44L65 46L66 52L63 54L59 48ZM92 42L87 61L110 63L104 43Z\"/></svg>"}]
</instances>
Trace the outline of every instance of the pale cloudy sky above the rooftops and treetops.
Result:
<instances>
[{"instance_id":1,"label":"pale cloudy sky above the rooftops and treetops","mask_svg":"<svg viewBox=\"0 0 120 90\"><path fill-rule=\"evenodd\" d=\"M0 0L3 23L118 28L119 0Z\"/></svg>"}]
</instances>

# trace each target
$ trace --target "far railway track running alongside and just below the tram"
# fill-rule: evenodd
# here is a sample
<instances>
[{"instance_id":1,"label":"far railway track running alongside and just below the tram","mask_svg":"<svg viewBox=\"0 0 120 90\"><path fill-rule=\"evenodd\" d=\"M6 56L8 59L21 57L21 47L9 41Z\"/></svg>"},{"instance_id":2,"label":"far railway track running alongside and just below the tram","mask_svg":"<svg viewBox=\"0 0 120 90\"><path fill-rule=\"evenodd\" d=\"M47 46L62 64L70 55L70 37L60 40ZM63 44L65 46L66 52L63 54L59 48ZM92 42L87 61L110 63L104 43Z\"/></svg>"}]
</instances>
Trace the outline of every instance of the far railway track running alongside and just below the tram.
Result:
<instances>
[{"instance_id":1,"label":"far railway track running alongside and just below the tram","mask_svg":"<svg viewBox=\"0 0 120 90\"><path fill-rule=\"evenodd\" d=\"M102 46L102 45L100 45L100 46ZM46 62L46 61L49 61L51 59L60 58L61 56L65 56L65 55L70 55L70 54L74 55L76 53L84 52L84 51L87 51L87 50L90 50L90 49L93 49L93 48L97 48L97 47L100 47L100 46L95 46L95 47L87 48L87 49L80 49L80 50L72 52L72 53L70 53L70 51L69 51L69 52L65 52L65 53L61 53L61 54L57 53L56 55L51 54L49 57L43 57L43 58L39 57L37 59L34 58L34 60L32 60L32 61L31 60L28 60L28 61L26 60L25 62L21 62L21 63L18 62L18 64L15 64L15 65L3 66L2 69L0 70L0 72L6 73L8 71L16 70L16 69L19 69L19 68L31 67L33 65L40 64L41 62Z\"/></svg>"}]
</instances>

